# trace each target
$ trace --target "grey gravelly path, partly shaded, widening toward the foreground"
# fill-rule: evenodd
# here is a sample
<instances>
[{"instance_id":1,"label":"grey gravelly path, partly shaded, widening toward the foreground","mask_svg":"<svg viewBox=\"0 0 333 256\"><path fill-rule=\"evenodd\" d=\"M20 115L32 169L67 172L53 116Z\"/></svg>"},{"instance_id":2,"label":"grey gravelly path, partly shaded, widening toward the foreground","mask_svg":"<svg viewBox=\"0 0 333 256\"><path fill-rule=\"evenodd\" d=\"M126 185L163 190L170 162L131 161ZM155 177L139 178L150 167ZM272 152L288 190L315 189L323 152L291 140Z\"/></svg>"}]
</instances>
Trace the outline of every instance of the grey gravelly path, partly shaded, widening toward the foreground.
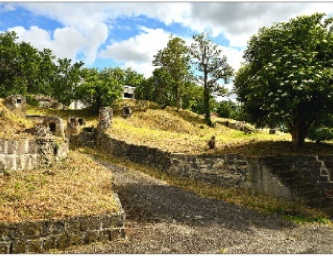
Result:
<instances>
[{"instance_id":1,"label":"grey gravelly path, partly shaded, widening toward the foreground","mask_svg":"<svg viewBox=\"0 0 333 256\"><path fill-rule=\"evenodd\" d=\"M333 231L326 225L293 225L101 164L113 171L127 239L65 253L333 253Z\"/></svg>"}]
</instances>

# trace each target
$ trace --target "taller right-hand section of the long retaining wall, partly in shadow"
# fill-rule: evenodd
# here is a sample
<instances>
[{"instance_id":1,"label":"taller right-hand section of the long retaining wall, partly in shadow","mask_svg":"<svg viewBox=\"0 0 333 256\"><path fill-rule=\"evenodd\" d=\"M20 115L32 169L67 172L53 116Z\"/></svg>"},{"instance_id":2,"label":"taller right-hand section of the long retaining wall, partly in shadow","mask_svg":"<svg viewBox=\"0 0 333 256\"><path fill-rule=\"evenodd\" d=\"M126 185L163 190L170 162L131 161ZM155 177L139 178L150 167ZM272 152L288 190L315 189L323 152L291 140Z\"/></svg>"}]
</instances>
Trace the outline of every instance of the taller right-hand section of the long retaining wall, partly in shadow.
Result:
<instances>
[{"instance_id":1,"label":"taller right-hand section of the long retaining wall, partly in shadow","mask_svg":"<svg viewBox=\"0 0 333 256\"><path fill-rule=\"evenodd\" d=\"M333 204L333 156L172 154L168 173L261 194Z\"/></svg>"}]
</instances>

